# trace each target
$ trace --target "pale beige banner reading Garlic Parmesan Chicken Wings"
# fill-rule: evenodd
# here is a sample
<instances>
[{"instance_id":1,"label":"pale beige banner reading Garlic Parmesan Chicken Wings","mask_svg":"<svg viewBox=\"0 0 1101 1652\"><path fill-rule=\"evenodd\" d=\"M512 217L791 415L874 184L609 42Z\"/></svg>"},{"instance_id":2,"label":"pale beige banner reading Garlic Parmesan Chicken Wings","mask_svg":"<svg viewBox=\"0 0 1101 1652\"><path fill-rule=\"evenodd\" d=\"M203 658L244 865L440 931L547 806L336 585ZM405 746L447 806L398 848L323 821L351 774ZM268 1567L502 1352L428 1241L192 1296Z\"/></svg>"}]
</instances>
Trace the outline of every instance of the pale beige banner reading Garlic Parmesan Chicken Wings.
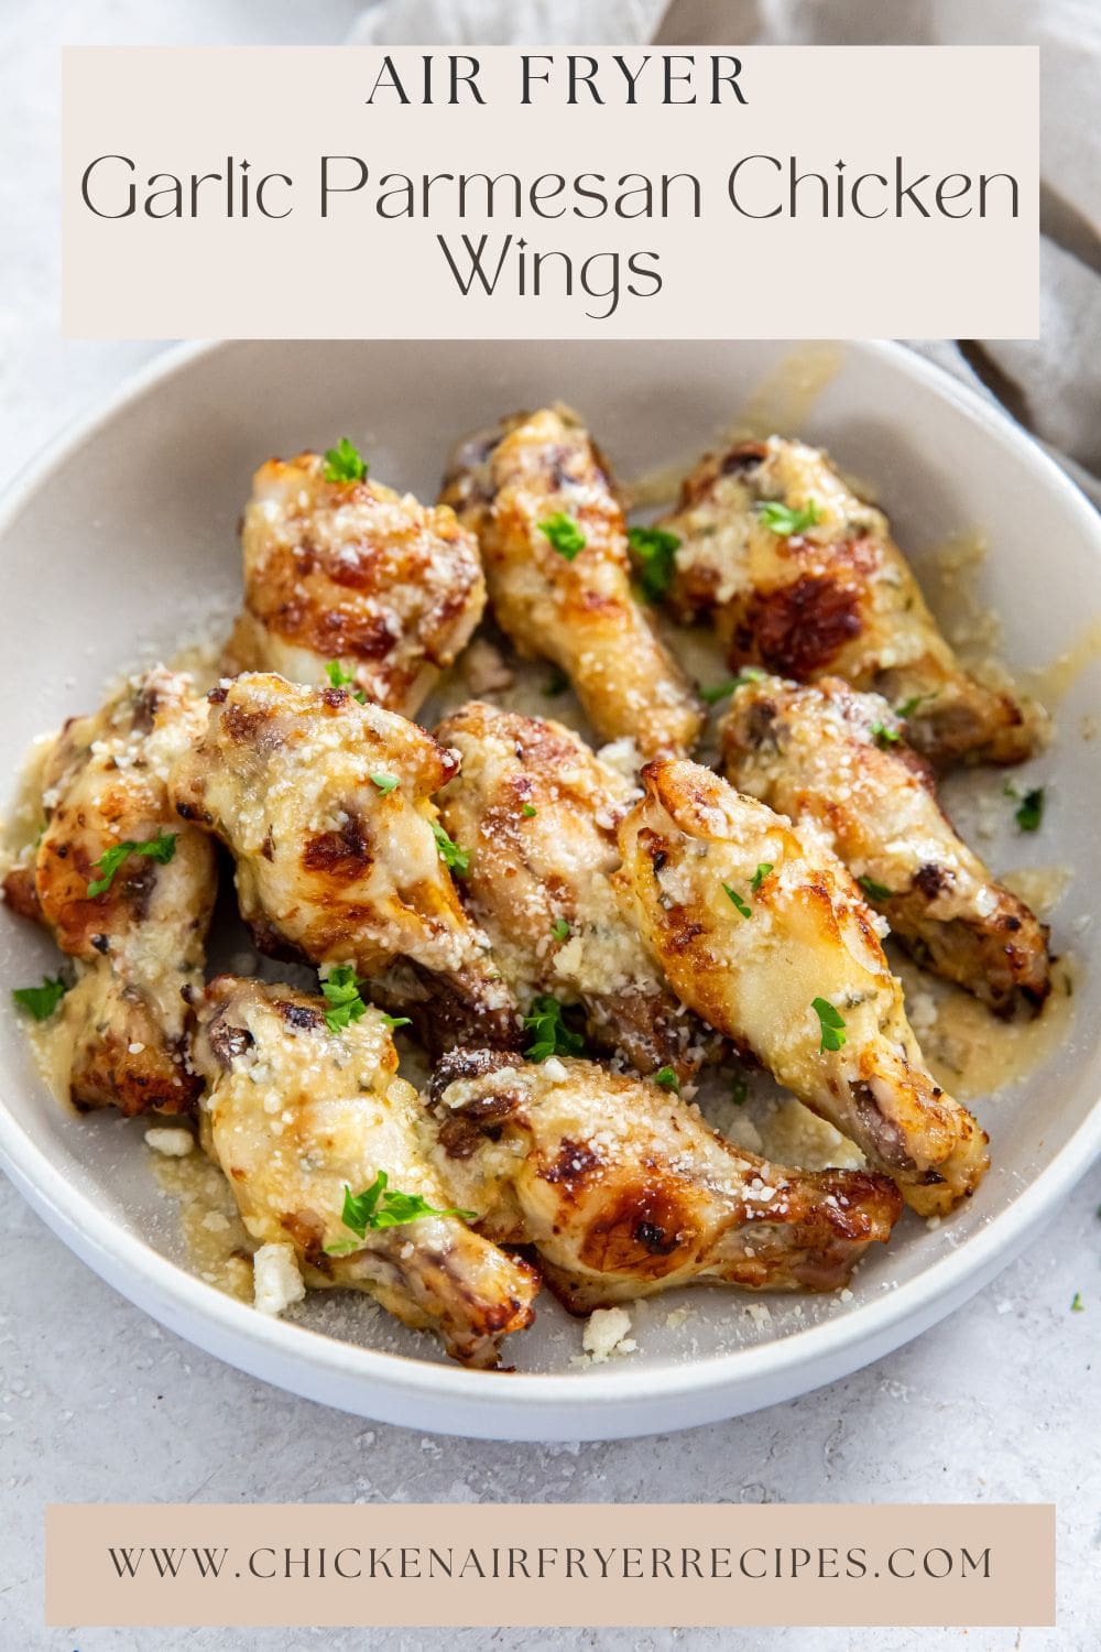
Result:
<instances>
[{"instance_id":1,"label":"pale beige banner reading Garlic Parmesan Chicken Wings","mask_svg":"<svg viewBox=\"0 0 1101 1652\"><path fill-rule=\"evenodd\" d=\"M64 53L83 337L1035 337L1023 46Z\"/></svg>"}]
</instances>

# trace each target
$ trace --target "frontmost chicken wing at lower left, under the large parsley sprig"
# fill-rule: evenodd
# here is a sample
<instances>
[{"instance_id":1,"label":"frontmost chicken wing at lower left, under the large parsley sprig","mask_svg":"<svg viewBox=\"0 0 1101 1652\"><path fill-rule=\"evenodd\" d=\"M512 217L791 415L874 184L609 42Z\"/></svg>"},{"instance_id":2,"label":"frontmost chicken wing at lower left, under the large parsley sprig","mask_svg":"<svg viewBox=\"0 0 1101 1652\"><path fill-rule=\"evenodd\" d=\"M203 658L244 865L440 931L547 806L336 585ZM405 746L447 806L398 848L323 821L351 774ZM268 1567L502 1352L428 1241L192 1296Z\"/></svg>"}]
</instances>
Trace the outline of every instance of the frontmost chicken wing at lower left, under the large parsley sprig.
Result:
<instances>
[{"instance_id":1,"label":"frontmost chicken wing at lower left, under the large parsley sprig","mask_svg":"<svg viewBox=\"0 0 1101 1652\"><path fill-rule=\"evenodd\" d=\"M203 1140L249 1234L292 1244L310 1285L366 1290L404 1325L437 1332L456 1360L494 1366L500 1338L532 1323L538 1275L451 1209L380 1011L333 1032L320 999L221 975L198 1019ZM398 1224L360 1236L343 1221L345 1188L357 1198L380 1173L373 1221L395 1196L431 1211L408 1221L406 1199Z\"/></svg>"}]
</instances>

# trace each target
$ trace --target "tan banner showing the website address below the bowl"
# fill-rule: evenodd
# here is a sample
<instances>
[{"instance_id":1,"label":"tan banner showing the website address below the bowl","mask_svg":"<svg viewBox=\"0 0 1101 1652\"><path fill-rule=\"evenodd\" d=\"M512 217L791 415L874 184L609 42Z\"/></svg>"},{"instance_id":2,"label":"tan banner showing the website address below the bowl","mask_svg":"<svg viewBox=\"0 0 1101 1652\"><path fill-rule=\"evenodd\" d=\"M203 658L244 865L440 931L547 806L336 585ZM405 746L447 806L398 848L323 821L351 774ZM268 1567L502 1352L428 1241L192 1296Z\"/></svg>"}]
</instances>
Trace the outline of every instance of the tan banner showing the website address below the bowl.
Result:
<instances>
[{"instance_id":1,"label":"tan banner showing the website address below the bowl","mask_svg":"<svg viewBox=\"0 0 1101 1652\"><path fill-rule=\"evenodd\" d=\"M46 1510L51 1626L1040 1626L1055 1507Z\"/></svg>"}]
</instances>

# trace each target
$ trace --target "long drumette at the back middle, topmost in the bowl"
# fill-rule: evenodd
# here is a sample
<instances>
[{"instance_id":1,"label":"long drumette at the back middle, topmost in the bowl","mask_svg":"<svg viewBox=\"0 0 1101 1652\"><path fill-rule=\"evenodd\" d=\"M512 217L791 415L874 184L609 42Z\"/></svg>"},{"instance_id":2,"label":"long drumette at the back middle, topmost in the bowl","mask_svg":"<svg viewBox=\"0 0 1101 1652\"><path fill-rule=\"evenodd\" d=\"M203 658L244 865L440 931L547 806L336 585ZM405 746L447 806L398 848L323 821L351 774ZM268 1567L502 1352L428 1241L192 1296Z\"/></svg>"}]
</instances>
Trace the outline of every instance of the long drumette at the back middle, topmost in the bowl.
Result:
<instances>
[{"instance_id":1,"label":"long drumette at the back middle, topmost in the bowl","mask_svg":"<svg viewBox=\"0 0 1101 1652\"><path fill-rule=\"evenodd\" d=\"M576 418L545 408L472 438L442 497L479 537L499 624L566 672L601 738L688 752L700 710L631 591L624 514Z\"/></svg>"}]
</instances>

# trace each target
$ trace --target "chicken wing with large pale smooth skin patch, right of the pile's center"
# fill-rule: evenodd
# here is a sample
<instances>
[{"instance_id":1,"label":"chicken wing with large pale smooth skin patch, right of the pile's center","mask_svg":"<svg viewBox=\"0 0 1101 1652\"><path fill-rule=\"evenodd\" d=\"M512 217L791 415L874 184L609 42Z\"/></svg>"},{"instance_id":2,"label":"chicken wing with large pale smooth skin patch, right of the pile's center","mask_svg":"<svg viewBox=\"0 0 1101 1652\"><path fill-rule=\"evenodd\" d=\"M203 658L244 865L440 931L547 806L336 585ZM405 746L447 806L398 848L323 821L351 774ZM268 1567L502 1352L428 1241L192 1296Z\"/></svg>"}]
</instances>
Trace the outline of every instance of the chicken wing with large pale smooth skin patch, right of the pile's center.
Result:
<instances>
[{"instance_id":1,"label":"chicken wing with large pale smooth skin patch, right of the pile's center","mask_svg":"<svg viewBox=\"0 0 1101 1652\"><path fill-rule=\"evenodd\" d=\"M820 843L697 763L642 771L617 876L673 990L748 1046L924 1216L974 1193L985 1133L934 1084L860 890Z\"/></svg>"}]
</instances>

